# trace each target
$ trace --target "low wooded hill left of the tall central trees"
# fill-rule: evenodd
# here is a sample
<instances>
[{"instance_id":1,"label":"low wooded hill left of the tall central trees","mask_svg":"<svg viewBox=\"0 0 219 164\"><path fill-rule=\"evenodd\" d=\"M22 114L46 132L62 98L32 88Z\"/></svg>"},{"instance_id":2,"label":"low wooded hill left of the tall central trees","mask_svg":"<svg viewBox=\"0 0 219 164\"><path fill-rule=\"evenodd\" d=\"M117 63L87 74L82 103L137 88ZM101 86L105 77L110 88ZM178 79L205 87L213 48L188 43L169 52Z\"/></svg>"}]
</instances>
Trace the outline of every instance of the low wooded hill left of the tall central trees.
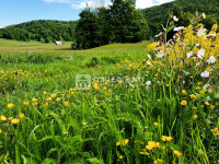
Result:
<instances>
[{"instance_id":1,"label":"low wooded hill left of the tall central trees","mask_svg":"<svg viewBox=\"0 0 219 164\"><path fill-rule=\"evenodd\" d=\"M0 28L0 37L16 40L36 39L43 43L71 40L76 21L31 21Z\"/></svg>"}]
</instances>

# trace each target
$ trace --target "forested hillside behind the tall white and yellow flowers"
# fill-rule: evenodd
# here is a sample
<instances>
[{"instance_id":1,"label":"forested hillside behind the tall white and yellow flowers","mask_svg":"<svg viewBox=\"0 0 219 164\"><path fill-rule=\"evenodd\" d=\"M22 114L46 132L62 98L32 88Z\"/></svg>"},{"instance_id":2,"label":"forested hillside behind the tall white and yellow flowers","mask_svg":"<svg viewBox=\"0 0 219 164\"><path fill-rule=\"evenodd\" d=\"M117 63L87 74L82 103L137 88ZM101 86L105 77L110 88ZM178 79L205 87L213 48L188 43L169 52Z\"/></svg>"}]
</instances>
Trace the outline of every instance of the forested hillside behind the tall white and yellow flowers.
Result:
<instances>
[{"instance_id":1,"label":"forested hillside behind the tall white and yellow flowers","mask_svg":"<svg viewBox=\"0 0 219 164\"><path fill-rule=\"evenodd\" d=\"M166 22L168 14L173 12L180 22L177 25L188 25L188 16L195 11L206 13L208 16L203 22L209 30L212 24L219 22L219 1L218 0L175 0L173 2L155 5L142 10L148 21L151 36L161 31L161 24Z\"/></svg>"}]
</instances>

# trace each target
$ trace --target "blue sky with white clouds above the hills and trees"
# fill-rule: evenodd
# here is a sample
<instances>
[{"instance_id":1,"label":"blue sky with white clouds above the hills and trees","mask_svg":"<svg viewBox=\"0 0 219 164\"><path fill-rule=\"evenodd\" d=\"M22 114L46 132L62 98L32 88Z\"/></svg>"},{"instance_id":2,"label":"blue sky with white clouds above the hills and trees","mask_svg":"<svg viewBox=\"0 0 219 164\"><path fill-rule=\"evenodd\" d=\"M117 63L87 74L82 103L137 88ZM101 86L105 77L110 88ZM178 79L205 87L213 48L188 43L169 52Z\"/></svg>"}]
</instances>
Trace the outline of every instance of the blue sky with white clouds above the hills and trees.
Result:
<instances>
[{"instance_id":1,"label":"blue sky with white clouds above the hills and trees","mask_svg":"<svg viewBox=\"0 0 219 164\"><path fill-rule=\"evenodd\" d=\"M136 0L143 9L173 0ZM110 0L0 0L0 27L33 20L74 21L80 11L90 7L110 4Z\"/></svg>"}]
</instances>

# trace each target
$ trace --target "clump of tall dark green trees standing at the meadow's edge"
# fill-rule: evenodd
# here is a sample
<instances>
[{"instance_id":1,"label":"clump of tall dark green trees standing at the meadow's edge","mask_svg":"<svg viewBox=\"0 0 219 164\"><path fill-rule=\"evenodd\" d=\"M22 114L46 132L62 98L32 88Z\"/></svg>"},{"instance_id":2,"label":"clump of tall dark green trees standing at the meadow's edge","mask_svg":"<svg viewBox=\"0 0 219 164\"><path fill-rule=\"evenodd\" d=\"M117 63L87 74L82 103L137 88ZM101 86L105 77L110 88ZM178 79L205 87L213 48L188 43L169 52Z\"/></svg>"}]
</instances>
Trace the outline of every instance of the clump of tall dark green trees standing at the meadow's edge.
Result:
<instances>
[{"instance_id":1,"label":"clump of tall dark green trees standing at the meadow's edge","mask_svg":"<svg viewBox=\"0 0 219 164\"><path fill-rule=\"evenodd\" d=\"M73 49L110 43L137 43L148 36L148 24L132 0L113 0L110 8L84 9L73 34Z\"/></svg>"}]
</instances>

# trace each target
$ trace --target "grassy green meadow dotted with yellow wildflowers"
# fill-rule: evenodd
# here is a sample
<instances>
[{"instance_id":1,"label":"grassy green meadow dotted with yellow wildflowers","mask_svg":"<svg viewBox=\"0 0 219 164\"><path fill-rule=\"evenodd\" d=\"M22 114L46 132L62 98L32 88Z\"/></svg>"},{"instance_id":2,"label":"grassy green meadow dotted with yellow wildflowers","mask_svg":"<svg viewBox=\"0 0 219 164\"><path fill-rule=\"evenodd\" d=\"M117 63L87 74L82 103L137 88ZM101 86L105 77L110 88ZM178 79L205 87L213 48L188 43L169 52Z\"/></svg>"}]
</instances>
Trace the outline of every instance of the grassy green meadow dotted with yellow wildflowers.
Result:
<instances>
[{"instance_id":1,"label":"grassy green meadow dotted with yellow wildflowers","mask_svg":"<svg viewBox=\"0 0 219 164\"><path fill-rule=\"evenodd\" d=\"M0 162L218 163L219 35L183 33L89 50L0 39Z\"/></svg>"}]
</instances>

